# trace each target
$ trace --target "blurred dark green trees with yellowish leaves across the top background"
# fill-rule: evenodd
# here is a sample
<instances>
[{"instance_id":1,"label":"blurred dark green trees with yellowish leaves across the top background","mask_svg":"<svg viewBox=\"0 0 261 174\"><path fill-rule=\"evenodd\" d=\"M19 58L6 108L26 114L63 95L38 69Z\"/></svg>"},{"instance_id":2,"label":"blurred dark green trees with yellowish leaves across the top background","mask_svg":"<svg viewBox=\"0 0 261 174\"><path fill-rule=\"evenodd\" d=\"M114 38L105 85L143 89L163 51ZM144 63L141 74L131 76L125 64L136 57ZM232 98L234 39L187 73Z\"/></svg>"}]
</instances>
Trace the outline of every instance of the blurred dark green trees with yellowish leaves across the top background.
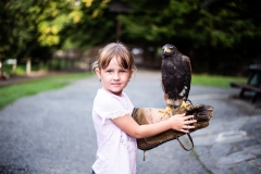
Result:
<instances>
[{"instance_id":1,"label":"blurred dark green trees with yellowish leaves across the top background","mask_svg":"<svg viewBox=\"0 0 261 174\"><path fill-rule=\"evenodd\" d=\"M95 57L92 48L119 40L147 52L144 65L160 67L164 44L187 54L194 73L243 75L246 65L261 63L254 0L1 0L0 14L2 62L48 65L59 50Z\"/></svg>"}]
</instances>

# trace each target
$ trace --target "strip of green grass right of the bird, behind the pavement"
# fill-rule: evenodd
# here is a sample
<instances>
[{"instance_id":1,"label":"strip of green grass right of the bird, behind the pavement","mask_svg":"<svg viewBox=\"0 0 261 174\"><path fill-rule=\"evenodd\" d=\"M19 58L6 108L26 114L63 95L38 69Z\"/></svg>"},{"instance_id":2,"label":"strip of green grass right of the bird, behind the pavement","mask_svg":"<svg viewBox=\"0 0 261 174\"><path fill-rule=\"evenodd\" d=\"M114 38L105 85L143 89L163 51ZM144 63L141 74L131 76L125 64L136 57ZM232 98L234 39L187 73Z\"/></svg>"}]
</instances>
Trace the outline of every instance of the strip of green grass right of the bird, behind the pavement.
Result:
<instances>
[{"instance_id":1,"label":"strip of green grass right of the bird, behind the pavement","mask_svg":"<svg viewBox=\"0 0 261 174\"><path fill-rule=\"evenodd\" d=\"M231 76L219 76L219 75L207 75L207 74L192 74L192 85L199 86L212 86L228 88L231 82L246 83L247 78L243 77L231 77Z\"/></svg>"}]
</instances>

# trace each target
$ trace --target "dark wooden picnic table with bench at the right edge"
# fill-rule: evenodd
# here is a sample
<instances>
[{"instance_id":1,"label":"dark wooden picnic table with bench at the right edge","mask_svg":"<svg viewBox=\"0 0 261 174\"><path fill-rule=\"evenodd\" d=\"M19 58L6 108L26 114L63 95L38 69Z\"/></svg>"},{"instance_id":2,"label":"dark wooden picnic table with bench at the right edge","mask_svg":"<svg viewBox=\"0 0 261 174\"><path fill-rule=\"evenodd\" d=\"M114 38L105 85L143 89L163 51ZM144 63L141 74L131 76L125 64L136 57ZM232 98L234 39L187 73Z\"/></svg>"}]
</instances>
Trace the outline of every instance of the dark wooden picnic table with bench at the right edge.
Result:
<instances>
[{"instance_id":1,"label":"dark wooden picnic table with bench at the right edge","mask_svg":"<svg viewBox=\"0 0 261 174\"><path fill-rule=\"evenodd\" d=\"M251 102L254 103L261 97L261 64L250 65L248 71L249 76L246 84L231 82L231 87L240 88L239 98L244 98L246 91L251 91Z\"/></svg>"}]
</instances>

